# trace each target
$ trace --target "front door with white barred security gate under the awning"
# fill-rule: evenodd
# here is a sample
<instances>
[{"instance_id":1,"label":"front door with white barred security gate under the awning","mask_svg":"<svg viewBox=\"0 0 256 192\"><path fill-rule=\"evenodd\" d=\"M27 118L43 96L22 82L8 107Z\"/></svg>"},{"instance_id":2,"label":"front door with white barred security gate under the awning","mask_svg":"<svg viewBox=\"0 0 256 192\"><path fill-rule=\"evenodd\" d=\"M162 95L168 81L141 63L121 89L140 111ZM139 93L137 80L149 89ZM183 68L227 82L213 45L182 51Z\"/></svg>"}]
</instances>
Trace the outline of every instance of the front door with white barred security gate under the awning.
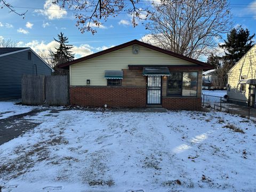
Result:
<instances>
[{"instance_id":1,"label":"front door with white barred security gate under the awning","mask_svg":"<svg viewBox=\"0 0 256 192\"><path fill-rule=\"evenodd\" d=\"M162 76L148 76L147 104L162 103Z\"/></svg>"}]
</instances>

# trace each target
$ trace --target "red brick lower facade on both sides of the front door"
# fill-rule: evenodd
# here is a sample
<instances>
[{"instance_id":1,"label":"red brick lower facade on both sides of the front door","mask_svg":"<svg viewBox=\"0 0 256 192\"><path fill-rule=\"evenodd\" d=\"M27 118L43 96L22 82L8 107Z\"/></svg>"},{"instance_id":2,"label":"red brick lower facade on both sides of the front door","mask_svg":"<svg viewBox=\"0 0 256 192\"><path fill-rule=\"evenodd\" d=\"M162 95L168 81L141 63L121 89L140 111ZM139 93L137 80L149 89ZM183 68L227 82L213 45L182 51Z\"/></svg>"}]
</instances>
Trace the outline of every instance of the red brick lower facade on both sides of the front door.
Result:
<instances>
[{"instance_id":1,"label":"red brick lower facade on both sides of the front door","mask_svg":"<svg viewBox=\"0 0 256 192\"><path fill-rule=\"evenodd\" d=\"M76 106L146 107L146 87L70 86L70 104ZM162 106L173 110L200 110L201 98L162 98Z\"/></svg>"}]
</instances>

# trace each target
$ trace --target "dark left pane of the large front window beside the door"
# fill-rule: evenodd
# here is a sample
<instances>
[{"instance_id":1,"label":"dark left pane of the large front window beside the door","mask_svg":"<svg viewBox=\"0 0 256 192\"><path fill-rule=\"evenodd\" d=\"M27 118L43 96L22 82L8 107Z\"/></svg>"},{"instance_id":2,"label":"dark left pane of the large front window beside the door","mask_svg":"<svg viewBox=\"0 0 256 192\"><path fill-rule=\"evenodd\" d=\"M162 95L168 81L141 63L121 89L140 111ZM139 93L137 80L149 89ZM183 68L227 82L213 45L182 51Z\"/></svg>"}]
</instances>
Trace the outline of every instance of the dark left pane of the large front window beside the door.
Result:
<instances>
[{"instance_id":1,"label":"dark left pane of the large front window beside the door","mask_svg":"<svg viewBox=\"0 0 256 192\"><path fill-rule=\"evenodd\" d=\"M167 95L181 95L182 73L174 72L168 77Z\"/></svg>"}]
</instances>

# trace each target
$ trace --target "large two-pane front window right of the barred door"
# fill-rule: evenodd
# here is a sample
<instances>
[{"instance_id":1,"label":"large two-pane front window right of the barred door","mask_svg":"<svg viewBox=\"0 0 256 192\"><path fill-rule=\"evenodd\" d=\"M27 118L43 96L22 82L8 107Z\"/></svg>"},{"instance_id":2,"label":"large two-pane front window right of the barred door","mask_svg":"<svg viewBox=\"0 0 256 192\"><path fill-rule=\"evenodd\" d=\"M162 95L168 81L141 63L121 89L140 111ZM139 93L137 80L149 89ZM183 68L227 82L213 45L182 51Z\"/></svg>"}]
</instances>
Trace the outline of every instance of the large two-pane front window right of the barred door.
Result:
<instances>
[{"instance_id":1,"label":"large two-pane front window right of the barred door","mask_svg":"<svg viewBox=\"0 0 256 192\"><path fill-rule=\"evenodd\" d=\"M197 72L173 72L168 77L167 95L196 97Z\"/></svg>"}]
</instances>

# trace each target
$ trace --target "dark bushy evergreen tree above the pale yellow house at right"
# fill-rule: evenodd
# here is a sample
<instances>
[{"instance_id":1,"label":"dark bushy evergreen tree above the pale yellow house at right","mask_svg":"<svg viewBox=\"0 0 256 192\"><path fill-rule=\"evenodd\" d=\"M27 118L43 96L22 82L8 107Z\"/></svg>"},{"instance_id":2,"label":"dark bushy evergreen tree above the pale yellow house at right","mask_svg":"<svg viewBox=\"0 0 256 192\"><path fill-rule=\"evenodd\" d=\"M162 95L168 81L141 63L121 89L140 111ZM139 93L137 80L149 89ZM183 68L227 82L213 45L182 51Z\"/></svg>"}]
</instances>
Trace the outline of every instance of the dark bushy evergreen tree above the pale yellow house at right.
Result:
<instances>
[{"instance_id":1,"label":"dark bushy evergreen tree above the pale yellow house at right","mask_svg":"<svg viewBox=\"0 0 256 192\"><path fill-rule=\"evenodd\" d=\"M222 59L228 63L229 68L233 67L251 49L254 43L252 41L254 36L255 34L250 35L248 29L243 29L239 26L230 31L224 44L219 45L219 47L225 49L225 55Z\"/></svg>"}]
</instances>

